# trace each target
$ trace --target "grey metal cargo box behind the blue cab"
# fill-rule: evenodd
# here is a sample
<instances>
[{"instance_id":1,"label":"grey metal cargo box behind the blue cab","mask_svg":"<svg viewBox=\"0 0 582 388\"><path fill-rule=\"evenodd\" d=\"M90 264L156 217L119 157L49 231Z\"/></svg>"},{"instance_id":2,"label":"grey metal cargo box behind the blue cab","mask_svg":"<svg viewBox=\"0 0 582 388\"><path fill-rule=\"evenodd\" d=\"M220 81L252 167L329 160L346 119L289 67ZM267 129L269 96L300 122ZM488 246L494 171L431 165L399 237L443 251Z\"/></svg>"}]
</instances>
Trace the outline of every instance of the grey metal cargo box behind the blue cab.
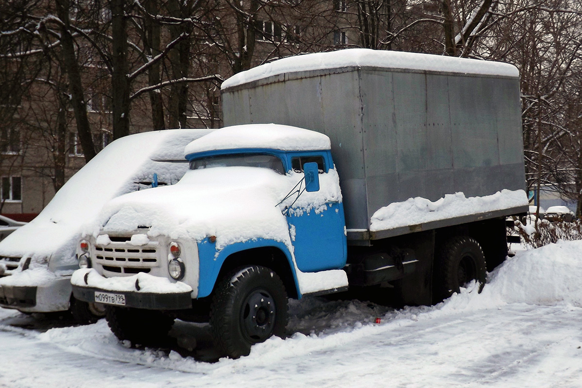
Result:
<instances>
[{"instance_id":1,"label":"grey metal cargo box behind the blue cab","mask_svg":"<svg viewBox=\"0 0 582 388\"><path fill-rule=\"evenodd\" d=\"M411 197L435 201L456 192L474 197L525 189L517 70L444 70L349 66L226 85L224 123L288 124L328 135L348 238L416 231L370 233L370 218ZM444 220L432 228L482 216Z\"/></svg>"}]
</instances>

